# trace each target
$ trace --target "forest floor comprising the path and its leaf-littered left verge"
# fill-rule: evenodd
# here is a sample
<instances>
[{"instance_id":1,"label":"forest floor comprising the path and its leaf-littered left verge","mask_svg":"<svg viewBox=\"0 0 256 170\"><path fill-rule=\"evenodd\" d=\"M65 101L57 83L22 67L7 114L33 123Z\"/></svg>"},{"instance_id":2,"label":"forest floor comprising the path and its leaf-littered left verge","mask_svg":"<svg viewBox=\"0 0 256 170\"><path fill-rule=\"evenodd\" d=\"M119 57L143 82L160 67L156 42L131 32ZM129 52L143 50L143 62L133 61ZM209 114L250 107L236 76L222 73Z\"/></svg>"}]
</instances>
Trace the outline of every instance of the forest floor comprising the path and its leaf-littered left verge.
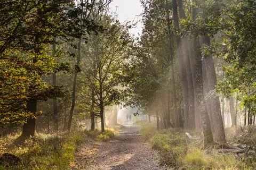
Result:
<instances>
[{"instance_id":1,"label":"forest floor comprising the path and its leaf-littered left verge","mask_svg":"<svg viewBox=\"0 0 256 170\"><path fill-rule=\"evenodd\" d=\"M76 154L75 169L163 169L156 151L142 139L138 129L137 125L128 123L113 140L93 145L85 141Z\"/></svg>"}]
</instances>

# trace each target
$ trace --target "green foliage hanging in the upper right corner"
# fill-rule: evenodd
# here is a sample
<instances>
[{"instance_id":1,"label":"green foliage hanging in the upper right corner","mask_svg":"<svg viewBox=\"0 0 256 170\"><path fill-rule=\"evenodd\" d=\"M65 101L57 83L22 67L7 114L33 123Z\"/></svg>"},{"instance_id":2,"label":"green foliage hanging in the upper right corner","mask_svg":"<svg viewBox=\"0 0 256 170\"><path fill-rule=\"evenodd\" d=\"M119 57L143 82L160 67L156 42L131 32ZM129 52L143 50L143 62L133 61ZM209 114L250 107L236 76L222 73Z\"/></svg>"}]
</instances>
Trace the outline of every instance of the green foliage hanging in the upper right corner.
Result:
<instances>
[{"instance_id":1,"label":"green foliage hanging in the upper right corner","mask_svg":"<svg viewBox=\"0 0 256 170\"><path fill-rule=\"evenodd\" d=\"M226 97L239 94L243 105L254 109L256 22L255 1L195 1L200 8L196 19L183 20L183 33L194 36L211 36L211 46L202 48L204 56L215 55L222 59L223 78L217 89Z\"/></svg>"}]
</instances>

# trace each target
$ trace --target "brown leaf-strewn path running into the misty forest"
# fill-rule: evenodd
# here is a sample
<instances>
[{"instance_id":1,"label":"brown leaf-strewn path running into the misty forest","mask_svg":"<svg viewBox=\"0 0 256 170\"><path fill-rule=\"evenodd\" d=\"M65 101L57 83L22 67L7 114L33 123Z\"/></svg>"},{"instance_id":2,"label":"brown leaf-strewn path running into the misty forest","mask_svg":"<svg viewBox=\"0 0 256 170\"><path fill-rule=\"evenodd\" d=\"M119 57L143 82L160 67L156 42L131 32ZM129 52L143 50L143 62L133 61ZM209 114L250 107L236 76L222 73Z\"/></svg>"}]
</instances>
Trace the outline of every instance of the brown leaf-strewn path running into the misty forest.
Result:
<instances>
[{"instance_id":1,"label":"brown leaf-strewn path running into the misty forest","mask_svg":"<svg viewBox=\"0 0 256 170\"><path fill-rule=\"evenodd\" d=\"M91 169L162 169L158 165L156 152L137 132L137 125L125 124L115 140L99 146L95 166Z\"/></svg>"}]
</instances>

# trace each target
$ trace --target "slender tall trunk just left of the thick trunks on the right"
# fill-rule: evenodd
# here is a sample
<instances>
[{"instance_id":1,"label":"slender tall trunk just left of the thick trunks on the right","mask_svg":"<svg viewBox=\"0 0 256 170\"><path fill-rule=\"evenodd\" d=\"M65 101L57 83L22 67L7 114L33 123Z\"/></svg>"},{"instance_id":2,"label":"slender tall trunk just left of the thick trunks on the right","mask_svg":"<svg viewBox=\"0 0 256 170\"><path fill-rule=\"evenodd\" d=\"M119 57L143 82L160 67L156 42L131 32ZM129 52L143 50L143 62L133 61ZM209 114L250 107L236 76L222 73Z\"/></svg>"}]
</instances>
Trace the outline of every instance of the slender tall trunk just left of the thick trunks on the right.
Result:
<instances>
[{"instance_id":1,"label":"slender tall trunk just left of the thick trunks on the right","mask_svg":"<svg viewBox=\"0 0 256 170\"><path fill-rule=\"evenodd\" d=\"M168 43L169 43L169 50L170 50L170 58L169 62L171 65L171 89L172 89L172 101L173 101L173 122L174 127L177 128L179 126L179 115L178 115L178 108L177 108L177 95L176 95L176 86L175 86L175 73L174 73L174 56L173 56L173 48L172 48L172 38L171 38L171 19L170 19L170 6L168 0L166 0L166 14L167 14L167 24L168 24Z\"/></svg>"}]
</instances>

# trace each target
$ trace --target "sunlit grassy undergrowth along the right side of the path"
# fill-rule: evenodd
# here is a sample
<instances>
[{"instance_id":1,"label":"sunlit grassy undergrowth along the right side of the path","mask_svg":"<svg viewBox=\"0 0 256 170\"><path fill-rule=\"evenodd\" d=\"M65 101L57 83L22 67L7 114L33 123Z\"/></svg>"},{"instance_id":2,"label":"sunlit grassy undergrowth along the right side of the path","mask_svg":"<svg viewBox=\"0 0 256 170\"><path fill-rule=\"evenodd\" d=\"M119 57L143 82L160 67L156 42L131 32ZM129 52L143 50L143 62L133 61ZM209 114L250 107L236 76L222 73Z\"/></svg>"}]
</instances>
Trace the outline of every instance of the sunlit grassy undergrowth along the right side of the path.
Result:
<instances>
[{"instance_id":1,"label":"sunlit grassy undergrowth along the right side of the path","mask_svg":"<svg viewBox=\"0 0 256 170\"><path fill-rule=\"evenodd\" d=\"M250 133L253 132L253 130L249 131ZM254 130L254 132L256 131ZM194 141L189 140L182 130L169 129L156 131L153 130L152 125L143 125L143 127L140 128L140 133L145 135L153 148L159 151L161 163L174 169L256 169L254 166L256 162L256 150L254 150L256 148L256 135L251 138L243 138L242 143L251 143L250 145L253 147L250 148L250 150L254 150L251 151L251 155L245 152L245 154L237 156L235 154L220 154L213 149L203 149L202 145L197 145L199 139L193 139ZM244 137L244 135L241 135L237 140L242 141L241 138Z\"/></svg>"}]
</instances>

